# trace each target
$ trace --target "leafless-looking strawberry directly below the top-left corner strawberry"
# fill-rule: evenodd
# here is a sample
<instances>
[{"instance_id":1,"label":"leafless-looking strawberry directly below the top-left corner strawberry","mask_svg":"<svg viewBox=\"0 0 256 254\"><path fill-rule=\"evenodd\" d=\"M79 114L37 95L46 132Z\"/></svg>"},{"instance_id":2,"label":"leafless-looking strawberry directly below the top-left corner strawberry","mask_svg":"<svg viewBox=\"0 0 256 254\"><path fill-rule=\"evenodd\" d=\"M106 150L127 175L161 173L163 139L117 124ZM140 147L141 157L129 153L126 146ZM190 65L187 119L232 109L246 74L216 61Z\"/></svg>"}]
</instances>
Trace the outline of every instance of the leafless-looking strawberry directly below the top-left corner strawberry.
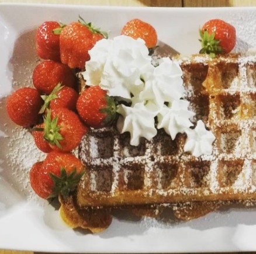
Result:
<instances>
[{"instance_id":1,"label":"leafless-looking strawberry directly below the top-left corner strawberry","mask_svg":"<svg viewBox=\"0 0 256 254\"><path fill-rule=\"evenodd\" d=\"M46 60L34 68L33 84L41 94L49 95L58 83L71 88L75 87L75 76L67 65Z\"/></svg>"}]
</instances>

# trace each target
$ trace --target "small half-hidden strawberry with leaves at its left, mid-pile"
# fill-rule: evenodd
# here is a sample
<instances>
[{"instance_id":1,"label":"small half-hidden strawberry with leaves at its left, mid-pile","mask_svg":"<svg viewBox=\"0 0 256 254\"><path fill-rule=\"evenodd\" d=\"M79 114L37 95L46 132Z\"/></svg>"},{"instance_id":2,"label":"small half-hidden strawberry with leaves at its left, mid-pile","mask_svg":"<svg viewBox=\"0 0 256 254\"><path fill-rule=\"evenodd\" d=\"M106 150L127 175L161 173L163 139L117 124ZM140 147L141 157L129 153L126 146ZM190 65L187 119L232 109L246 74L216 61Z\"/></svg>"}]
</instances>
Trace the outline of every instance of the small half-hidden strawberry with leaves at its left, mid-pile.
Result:
<instances>
[{"instance_id":1,"label":"small half-hidden strawberry with leaves at its left, mid-pile","mask_svg":"<svg viewBox=\"0 0 256 254\"><path fill-rule=\"evenodd\" d=\"M53 89L50 95L43 95L44 105L40 112L45 112L46 109L65 108L75 111L78 93L67 86L61 86L61 83Z\"/></svg>"}]
</instances>

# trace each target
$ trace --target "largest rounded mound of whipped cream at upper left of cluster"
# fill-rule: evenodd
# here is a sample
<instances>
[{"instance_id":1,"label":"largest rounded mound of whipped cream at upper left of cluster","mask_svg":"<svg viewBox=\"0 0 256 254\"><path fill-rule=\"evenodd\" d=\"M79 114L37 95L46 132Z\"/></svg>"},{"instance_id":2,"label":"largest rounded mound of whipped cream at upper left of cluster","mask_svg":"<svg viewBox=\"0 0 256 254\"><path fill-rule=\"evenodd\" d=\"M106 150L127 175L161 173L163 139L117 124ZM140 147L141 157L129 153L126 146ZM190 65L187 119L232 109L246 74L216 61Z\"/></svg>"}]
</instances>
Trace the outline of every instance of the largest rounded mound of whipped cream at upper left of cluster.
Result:
<instances>
[{"instance_id":1,"label":"largest rounded mound of whipped cream at upper left of cluster","mask_svg":"<svg viewBox=\"0 0 256 254\"><path fill-rule=\"evenodd\" d=\"M144 72L151 69L151 57L144 40L117 36L99 40L89 50L90 60L82 73L87 85L99 85L109 96L131 99L142 91Z\"/></svg>"}]
</instances>

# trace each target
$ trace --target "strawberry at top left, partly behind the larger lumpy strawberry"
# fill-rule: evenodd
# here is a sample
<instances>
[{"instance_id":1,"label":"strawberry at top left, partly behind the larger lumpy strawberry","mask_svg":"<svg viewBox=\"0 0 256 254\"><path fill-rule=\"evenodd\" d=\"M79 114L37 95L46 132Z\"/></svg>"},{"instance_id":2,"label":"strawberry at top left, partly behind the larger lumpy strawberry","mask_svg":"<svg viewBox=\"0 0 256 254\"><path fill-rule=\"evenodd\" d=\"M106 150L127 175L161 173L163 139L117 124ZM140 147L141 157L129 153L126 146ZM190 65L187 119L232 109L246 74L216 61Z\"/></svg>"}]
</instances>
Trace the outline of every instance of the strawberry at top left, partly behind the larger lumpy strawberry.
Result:
<instances>
[{"instance_id":1,"label":"strawberry at top left, partly behind the larger lumpy strawberry","mask_svg":"<svg viewBox=\"0 0 256 254\"><path fill-rule=\"evenodd\" d=\"M38 27L36 33L37 55L43 59L60 61L60 30L61 25L56 21L46 21Z\"/></svg>"}]
</instances>

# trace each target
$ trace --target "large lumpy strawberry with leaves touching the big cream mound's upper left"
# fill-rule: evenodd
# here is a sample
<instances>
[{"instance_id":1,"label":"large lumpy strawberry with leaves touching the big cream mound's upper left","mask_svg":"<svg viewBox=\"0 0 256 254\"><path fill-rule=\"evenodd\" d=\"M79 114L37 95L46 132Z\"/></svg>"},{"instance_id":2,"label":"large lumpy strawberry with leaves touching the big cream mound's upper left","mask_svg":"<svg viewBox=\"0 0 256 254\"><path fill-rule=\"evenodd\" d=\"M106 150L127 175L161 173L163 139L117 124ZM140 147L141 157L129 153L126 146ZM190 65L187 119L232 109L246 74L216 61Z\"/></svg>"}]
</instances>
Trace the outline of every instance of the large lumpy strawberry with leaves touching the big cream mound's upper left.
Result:
<instances>
[{"instance_id":1,"label":"large lumpy strawberry with leaves touching the big cream mound's upper left","mask_svg":"<svg viewBox=\"0 0 256 254\"><path fill-rule=\"evenodd\" d=\"M88 50L94 47L96 41L107 37L107 34L95 29L91 23L81 19L63 27L60 34L61 62L70 68L85 68L85 62L90 56Z\"/></svg>"}]
</instances>

